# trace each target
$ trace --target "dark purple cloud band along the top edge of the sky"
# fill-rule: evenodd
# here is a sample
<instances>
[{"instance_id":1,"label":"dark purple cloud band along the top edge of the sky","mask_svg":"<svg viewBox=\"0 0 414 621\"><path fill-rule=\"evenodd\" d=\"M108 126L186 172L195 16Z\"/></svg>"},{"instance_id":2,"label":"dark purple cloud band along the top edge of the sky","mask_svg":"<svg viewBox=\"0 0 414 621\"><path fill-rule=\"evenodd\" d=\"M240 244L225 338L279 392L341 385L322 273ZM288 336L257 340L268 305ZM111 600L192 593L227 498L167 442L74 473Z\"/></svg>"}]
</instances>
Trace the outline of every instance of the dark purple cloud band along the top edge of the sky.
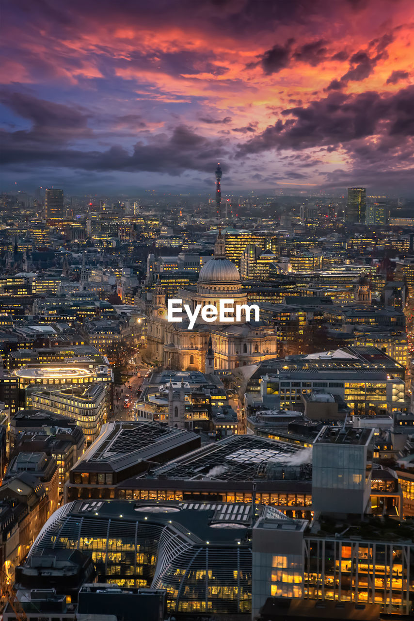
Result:
<instances>
[{"instance_id":1,"label":"dark purple cloud band along the top edge of the sky","mask_svg":"<svg viewBox=\"0 0 414 621\"><path fill-rule=\"evenodd\" d=\"M345 0L343 10L363 9L358 2ZM53 0L19 0L19 17L45 29L59 28L60 36L74 33L85 24L106 22L140 25L158 29L160 24L182 27L202 25L206 33L229 34L235 37L252 33L273 32L278 25L308 24L312 16L323 15L326 20L338 14L335 3L326 0L72 0L70 4Z\"/></svg>"}]
</instances>

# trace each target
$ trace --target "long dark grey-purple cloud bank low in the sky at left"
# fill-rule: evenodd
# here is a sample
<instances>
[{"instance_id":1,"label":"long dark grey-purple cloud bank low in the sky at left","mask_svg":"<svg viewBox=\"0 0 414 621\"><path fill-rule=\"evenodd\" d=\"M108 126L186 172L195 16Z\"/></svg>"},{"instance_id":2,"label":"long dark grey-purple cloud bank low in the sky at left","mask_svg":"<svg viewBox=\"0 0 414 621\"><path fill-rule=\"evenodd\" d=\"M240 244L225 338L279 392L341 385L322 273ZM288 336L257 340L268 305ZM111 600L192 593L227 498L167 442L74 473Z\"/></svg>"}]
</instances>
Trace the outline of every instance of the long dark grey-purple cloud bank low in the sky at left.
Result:
<instances>
[{"instance_id":1,"label":"long dark grey-purple cloud bank low in the sky at left","mask_svg":"<svg viewBox=\"0 0 414 621\"><path fill-rule=\"evenodd\" d=\"M205 138L185 125L175 127L171 135L153 134L149 142L137 142L131 151L117 145L106 151L81 150L76 147L78 139L93 135L87 126L88 114L20 93L3 93L2 102L16 114L32 121L28 130L1 130L0 163L4 166L36 165L180 175L184 170L212 170L217 155L226 154L221 140ZM131 120L128 116L127 119Z\"/></svg>"}]
</instances>

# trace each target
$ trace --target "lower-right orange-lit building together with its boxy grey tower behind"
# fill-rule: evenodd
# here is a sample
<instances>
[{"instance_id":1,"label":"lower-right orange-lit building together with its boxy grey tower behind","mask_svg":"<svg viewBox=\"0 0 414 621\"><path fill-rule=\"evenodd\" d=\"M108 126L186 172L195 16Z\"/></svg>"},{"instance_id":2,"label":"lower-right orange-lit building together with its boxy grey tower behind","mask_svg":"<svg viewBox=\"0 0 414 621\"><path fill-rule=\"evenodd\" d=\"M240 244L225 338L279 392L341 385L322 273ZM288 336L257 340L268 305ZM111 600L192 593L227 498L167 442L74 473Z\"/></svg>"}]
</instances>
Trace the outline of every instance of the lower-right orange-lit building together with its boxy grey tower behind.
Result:
<instances>
[{"instance_id":1,"label":"lower-right orange-lit building together with its boxy grey tower behind","mask_svg":"<svg viewBox=\"0 0 414 621\"><path fill-rule=\"evenodd\" d=\"M412 614L414 527L392 519L384 525L366 513L373 441L373 429L320 430L312 459L317 529L271 508L259 516L253 615L269 596L378 604L384 614Z\"/></svg>"}]
</instances>

